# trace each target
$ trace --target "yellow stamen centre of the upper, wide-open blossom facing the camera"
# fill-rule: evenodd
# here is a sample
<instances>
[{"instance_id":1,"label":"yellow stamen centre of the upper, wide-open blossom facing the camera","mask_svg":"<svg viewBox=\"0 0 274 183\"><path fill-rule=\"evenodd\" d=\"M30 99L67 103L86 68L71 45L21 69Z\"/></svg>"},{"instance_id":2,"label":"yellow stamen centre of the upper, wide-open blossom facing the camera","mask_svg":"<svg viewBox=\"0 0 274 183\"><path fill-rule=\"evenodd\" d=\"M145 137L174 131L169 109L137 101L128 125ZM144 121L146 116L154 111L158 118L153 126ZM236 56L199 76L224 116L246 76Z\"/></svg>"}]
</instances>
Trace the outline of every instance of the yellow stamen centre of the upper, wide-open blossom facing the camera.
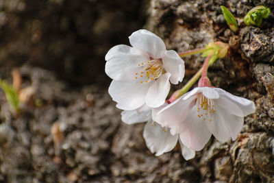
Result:
<instances>
[{"instance_id":1,"label":"yellow stamen centre of the upper, wide-open blossom facing the camera","mask_svg":"<svg viewBox=\"0 0 274 183\"><path fill-rule=\"evenodd\" d=\"M137 80L138 77L142 78L140 83L147 83L156 80L163 72L162 61L160 59L142 62L138 64L138 66L140 66L141 69L140 72L135 73L135 79Z\"/></svg>"}]
</instances>

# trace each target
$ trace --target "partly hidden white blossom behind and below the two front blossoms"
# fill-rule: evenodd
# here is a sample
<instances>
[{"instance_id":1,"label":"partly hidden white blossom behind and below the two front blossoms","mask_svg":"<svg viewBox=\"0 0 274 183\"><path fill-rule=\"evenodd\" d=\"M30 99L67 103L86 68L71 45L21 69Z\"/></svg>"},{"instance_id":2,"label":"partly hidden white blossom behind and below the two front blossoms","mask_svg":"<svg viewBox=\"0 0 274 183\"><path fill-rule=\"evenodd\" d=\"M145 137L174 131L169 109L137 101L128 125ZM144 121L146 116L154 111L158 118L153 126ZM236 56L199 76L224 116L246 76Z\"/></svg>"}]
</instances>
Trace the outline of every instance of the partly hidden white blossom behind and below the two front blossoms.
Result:
<instances>
[{"instance_id":1,"label":"partly hidden white blossom behind and below the two front blossoms","mask_svg":"<svg viewBox=\"0 0 274 183\"><path fill-rule=\"evenodd\" d=\"M160 108L153 110L158 111ZM155 156L160 156L165 152L171 151L175 147L177 141L179 140L179 135L171 134L169 132L169 128L163 128L161 125L153 121L151 118L151 113L151 108L144 105L137 110L124 110L121 112L121 115L122 121L127 124L147 121L142 135L145 138L145 143L151 153L155 153ZM179 144L181 145L182 156L186 160L195 157L194 150L186 147L181 140L179 140Z\"/></svg>"}]
</instances>

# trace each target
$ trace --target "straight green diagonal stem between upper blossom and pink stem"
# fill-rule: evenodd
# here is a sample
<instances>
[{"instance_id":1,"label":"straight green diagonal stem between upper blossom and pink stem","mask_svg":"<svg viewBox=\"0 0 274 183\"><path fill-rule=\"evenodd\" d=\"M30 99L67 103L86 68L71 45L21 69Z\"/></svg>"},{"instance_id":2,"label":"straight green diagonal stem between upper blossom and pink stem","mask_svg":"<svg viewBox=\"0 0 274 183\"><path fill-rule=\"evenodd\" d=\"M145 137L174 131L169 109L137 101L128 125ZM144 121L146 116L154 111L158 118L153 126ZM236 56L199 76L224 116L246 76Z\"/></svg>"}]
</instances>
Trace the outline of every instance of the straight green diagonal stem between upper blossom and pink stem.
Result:
<instances>
[{"instance_id":1,"label":"straight green diagonal stem between upper blossom and pink stem","mask_svg":"<svg viewBox=\"0 0 274 183\"><path fill-rule=\"evenodd\" d=\"M208 60L208 66L210 66L211 64L213 64L215 62L215 60L217 60L218 56L216 55L213 55L213 56L208 56L208 58L206 58ZM206 62L207 62L206 60ZM204 66L206 65L206 62L204 64ZM201 74L203 73L203 69L204 69L204 66L201 67L201 69L199 69L199 71L186 83L186 85L179 90L179 93L177 94L177 98L181 97L182 95L184 95L185 93L188 92L188 90L192 87L193 84L195 84L195 82L197 82L197 80L199 79L199 77L201 76ZM208 69L206 69L207 71ZM205 71L205 72L206 72Z\"/></svg>"}]
</instances>

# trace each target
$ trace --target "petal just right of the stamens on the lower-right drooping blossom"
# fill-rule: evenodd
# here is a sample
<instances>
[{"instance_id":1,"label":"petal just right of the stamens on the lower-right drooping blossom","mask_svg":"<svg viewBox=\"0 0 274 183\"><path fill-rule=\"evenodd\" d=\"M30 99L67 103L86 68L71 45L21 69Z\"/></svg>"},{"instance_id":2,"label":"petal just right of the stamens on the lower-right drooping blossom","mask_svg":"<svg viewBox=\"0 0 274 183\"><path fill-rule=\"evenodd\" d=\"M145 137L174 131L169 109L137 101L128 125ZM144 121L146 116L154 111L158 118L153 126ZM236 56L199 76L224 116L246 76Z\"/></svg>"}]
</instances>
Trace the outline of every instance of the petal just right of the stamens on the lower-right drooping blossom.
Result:
<instances>
[{"instance_id":1,"label":"petal just right of the stamens on the lower-right drooping blossom","mask_svg":"<svg viewBox=\"0 0 274 183\"><path fill-rule=\"evenodd\" d=\"M221 108L218 103L215 103L214 119L206 121L206 125L212 134L221 142L226 142L232 137L236 140L242 125L244 123L243 117L237 117L229 114L225 108Z\"/></svg>"}]
</instances>

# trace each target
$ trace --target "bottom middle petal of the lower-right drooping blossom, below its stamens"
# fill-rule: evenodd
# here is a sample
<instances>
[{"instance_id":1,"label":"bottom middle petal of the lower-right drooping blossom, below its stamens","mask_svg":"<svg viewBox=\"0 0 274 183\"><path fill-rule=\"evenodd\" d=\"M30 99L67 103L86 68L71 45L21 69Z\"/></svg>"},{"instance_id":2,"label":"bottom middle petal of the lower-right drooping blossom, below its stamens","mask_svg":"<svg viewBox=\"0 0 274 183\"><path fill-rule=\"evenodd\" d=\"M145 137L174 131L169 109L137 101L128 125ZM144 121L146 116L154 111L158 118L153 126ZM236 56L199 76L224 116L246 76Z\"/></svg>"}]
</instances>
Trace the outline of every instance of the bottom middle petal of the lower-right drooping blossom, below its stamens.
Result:
<instances>
[{"instance_id":1,"label":"bottom middle petal of the lower-right drooping blossom, below its stamens","mask_svg":"<svg viewBox=\"0 0 274 183\"><path fill-rule=\"evenodd\" d=\"M184 123L185 130L179 134L179 138L186 147L195 151L200 151L210 140L211 132L206 126L206 122L199 119L197 108L193 107Z\"/></svg>"}]
</instances>

